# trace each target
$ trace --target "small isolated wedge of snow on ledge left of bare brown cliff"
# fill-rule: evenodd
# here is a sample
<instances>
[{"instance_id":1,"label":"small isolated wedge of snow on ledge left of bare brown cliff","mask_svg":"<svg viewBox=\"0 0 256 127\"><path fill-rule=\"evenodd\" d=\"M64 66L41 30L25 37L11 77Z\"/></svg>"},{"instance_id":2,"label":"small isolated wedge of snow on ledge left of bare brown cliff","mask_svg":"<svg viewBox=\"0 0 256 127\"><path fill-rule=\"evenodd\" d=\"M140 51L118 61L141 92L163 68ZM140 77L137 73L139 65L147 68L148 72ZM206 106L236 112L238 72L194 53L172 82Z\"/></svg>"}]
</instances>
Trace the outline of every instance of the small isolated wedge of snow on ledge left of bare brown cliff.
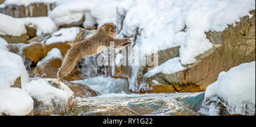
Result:
<instances>
[{"instance_id":1,"label":"small isolated wedge of snow on ledge left of bare brown cliff","mask_svg":"<svg viewBox=\"0 0 256 127\"><path fill-rule=\"evenodd\" d=\"M156 66L154 69L148 71L146 74L144 74L145 77L151 77L152 75L155 75L157 73L164 73L164 74L173 74L177 71L184 70L185 67L183 67L180 64L180 58L175 57L172 58L163 64Z\"/></svg>"}]
</instances>

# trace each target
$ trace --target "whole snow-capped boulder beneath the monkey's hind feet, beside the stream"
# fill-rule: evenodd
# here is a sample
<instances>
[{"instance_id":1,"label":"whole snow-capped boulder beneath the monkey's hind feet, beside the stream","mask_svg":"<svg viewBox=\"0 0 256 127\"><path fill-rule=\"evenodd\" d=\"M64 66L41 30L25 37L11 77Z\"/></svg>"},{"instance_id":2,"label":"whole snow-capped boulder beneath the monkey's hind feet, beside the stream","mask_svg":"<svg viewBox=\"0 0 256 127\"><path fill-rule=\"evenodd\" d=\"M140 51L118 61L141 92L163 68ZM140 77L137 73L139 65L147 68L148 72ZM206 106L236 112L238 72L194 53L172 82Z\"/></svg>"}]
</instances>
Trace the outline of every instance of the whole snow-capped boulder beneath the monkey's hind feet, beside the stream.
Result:
<instances>
[{"instance_id":1,"label":"whole snow-capped boulder beneath the monkey's hind feet, beside the stream","mask_svg":"<svg viewBox=\"0 0 256 127\"><path fill-rule=\"evenodd\" d=\"M57 79L38 79L23 86L34 100L35 115L64 115L75 105L73 92Z\"/></svg>"}]
</instances>

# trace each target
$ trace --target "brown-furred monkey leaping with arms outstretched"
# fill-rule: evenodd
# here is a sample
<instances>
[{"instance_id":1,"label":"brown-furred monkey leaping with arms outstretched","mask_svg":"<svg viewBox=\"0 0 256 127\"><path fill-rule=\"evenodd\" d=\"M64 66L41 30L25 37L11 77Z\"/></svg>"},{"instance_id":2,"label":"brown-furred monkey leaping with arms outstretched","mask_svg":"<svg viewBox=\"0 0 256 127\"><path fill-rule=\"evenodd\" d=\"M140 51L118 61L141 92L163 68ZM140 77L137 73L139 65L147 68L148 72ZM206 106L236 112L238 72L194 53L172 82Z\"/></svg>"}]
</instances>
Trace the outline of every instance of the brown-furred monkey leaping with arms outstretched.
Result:
<instances>
[{"instance_id":1,"label":"brown-furred monkey leaping with arms outstretched","mask_svg":"<svg viewBox=\"0 0 256 127\"><path fill-rule=\"evenodd\" d=\"M82 56L93 56L94 54L97 54L97 48L99 46L109 47L110 41L114 41L114 47L127 46L131 44L131 39L129 38L115 38L114 29L115 27L113 24L105 23L97 29L95 35L75 43L71 49L68 50L68 53L64 58L63 64L57 73L58 79L63 81L64 76L73 70Z\"/></svg>"}]
</instances>

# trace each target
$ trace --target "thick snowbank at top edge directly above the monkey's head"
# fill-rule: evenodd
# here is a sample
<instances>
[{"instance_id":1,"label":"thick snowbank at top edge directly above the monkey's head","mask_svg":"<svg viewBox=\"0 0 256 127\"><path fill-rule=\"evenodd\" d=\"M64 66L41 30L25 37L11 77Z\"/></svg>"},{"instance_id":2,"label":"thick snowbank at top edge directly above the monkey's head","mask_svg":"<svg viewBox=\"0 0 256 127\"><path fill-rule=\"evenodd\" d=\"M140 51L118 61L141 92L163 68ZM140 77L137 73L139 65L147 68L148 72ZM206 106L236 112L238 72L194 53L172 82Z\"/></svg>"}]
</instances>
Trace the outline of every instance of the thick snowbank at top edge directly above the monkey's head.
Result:
<instances>
[{"instance_id":1,"label":"thick snowbank at top edge directly above the monkey's head","mask_svg":"<svg viewBox=\"0 0 256 127\"><path fill-rule=\"evenodd\" d=\"M116 7L122 0L75 0L57 2L57 7L52 10L49 17L61 26L78 22L85 16L83 26L93 27L98 24L100 27L104 23L115 22Z\"/></svg>"}]
</instances>

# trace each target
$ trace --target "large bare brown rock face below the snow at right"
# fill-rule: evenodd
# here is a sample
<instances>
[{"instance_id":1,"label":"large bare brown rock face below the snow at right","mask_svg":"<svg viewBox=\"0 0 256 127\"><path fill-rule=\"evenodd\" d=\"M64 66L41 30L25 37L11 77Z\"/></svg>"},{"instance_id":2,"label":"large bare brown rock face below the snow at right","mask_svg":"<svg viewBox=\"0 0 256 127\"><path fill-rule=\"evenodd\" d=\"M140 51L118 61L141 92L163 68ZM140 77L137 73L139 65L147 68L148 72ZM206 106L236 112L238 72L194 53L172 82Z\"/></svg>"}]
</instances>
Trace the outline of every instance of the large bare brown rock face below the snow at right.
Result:
<instances>
[{"instance_id":1,"label":"large bare brown rock face below the snow at right","mask_svg":"<svg viewBox=\"0 0 256 127\"><path fill-rule=\"evenodd\" d=\"M221 71L255 61L255 10L250 14L253 15L251 18L243 16L235 27L229 25L222 32L207 32L213 48L200 54L195 64L184 65L187 69L174 74L158 73L150 78L143 77L144 81L150 84L155 80L162 85L172 85L177 92L200 92L215 82Z\"/></svg>"}]
</instances>

